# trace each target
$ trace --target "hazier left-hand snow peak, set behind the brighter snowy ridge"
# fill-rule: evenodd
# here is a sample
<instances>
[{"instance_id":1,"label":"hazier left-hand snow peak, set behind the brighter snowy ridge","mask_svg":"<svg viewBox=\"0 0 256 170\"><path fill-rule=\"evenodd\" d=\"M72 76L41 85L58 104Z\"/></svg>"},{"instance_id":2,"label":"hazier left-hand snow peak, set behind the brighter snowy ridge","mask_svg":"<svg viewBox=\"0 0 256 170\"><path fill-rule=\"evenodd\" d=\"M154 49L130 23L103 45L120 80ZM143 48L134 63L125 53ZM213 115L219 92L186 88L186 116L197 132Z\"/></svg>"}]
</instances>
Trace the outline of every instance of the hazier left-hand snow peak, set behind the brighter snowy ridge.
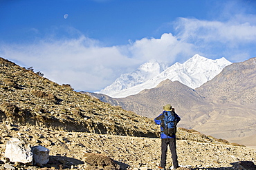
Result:
<instances>
[{"instance_id":1,"label":"hazier left-hand snow peak, set behind the brighter snowy ridge","mask_svg":"<svg viewBox=\"0 0 256 170\"><path fill-rule=\"evenodd\" d=\"M149 61L148 63L140 65L140 67L138 67L134 72L121 74L116 81L102 89L99 93L111 95L113 93L120 92L122 89L129 89L160 74L166 70L167 67L167 63L158 63L155 60Z\"/></svg>"}]
</instances>

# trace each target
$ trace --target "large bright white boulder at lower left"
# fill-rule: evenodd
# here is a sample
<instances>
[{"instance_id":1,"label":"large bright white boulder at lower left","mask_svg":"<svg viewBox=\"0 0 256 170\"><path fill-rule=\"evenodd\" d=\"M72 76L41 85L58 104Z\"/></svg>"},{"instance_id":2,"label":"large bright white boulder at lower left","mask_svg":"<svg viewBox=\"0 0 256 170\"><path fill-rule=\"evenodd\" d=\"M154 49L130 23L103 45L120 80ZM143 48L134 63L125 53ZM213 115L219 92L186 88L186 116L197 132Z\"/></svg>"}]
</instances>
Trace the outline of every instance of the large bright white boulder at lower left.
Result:
<instances>
[{"instance_id":1,"label":"large bright white boulder at lower left","mask_svg":"<svg viewBox=\"0 0 256 170\"><path fill-rule=\"evenodd\" d=\"M24 144L24 141L21 141L18 138L10 138L10 140L6 142L4 156L9 158L10 162L27 164L33 161L33 153L31 152L30 145Z\"/></svg>"}]
</instances>

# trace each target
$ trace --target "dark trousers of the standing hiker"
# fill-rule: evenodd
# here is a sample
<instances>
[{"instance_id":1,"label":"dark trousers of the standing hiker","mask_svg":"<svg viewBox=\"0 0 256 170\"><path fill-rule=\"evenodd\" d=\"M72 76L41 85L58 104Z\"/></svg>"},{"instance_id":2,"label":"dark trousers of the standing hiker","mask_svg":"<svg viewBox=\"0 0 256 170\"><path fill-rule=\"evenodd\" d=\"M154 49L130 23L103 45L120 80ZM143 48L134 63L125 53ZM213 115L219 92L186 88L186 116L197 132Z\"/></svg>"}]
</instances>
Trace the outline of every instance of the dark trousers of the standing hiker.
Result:
<instances>
[{"instance_id":1,"label":"dark trousers of the standing hiker","mask_svg":"<svg viewBox=\"0 0 256 170\"><path fill-rule=\"evenodd\" d=\"M167 146L169 145L171 153L172 153L172 163L174 164L174 168L178 168L178 156L176 153L176 138L167 138L161 140L161 167L165 168L166 166L166 153Z\"/></svg>"}]
</instances>

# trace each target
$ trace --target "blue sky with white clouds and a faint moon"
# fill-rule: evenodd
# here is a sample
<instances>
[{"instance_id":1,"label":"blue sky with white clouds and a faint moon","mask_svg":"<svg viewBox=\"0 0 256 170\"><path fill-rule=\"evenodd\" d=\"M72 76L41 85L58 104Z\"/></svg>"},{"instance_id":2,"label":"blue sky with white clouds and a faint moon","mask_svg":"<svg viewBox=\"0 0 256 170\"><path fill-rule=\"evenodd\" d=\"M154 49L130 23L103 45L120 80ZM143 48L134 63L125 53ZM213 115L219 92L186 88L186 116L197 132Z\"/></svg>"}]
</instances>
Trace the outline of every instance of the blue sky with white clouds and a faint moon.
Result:
<instances>
[{"instance_id":1,"label":"blue sky with white clouds and a faint moon","mask_svg":"<svg viewBox=\"0 0 256 170\"><path fill-rule=\"evenodd\" d=\"M156 59L256 56L256 1L0 0L0 56L99 91Z\"/></svg>"}]
</instances>

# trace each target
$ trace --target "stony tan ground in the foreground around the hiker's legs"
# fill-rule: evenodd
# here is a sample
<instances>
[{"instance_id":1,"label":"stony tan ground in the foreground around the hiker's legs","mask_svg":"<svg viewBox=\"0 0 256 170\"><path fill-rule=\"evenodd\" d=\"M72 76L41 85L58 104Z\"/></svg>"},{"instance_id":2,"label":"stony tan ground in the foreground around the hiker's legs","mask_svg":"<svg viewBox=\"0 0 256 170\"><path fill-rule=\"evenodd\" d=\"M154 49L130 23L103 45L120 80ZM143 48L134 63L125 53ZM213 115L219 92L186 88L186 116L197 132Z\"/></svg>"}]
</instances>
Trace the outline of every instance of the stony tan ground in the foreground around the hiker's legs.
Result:
<instances>
[{"instance_id":1,"label":"stony tan ground in the foreground around the hiker's legs","mask_svg":"<svg viewBox=\"0 0 256 170\"><path fill-rule=\"evenodd\" d=\"M156 169L160 162L161 139L82 132L53 131L41 127L1 123L0 169L6 164L16 169ZM256 149L230 145L203 136L196 131L179 129L190 140L177 140L181 169L256 169ZM20 138L31 147L50 149L50 161L41 167L15 164L4 158L6 142ZM172 165L170 151L168 166Z\"/></svg>"}]
</instances>

